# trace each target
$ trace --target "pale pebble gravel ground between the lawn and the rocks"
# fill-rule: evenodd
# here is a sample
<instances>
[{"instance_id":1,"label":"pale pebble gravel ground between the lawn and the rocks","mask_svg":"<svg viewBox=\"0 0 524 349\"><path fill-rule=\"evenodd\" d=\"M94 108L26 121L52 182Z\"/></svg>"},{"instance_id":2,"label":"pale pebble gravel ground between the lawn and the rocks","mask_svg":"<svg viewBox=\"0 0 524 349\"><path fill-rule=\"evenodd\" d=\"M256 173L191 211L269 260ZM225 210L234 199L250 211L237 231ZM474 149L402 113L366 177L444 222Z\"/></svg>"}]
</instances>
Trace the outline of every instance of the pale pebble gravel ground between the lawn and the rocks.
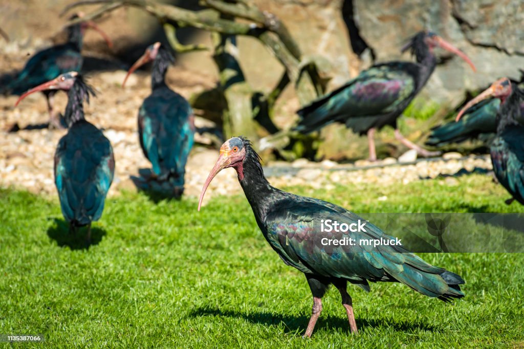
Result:
<instances>
[{"instance_id":1,"label":"pale pebble gravel ground between the lawn and the rocks","mask_svg":"<svg viewBox=\"0 0 524 349\"><path fill-rule=\"evenodd\" d=\"M15 59L4 59L0 69L9 71L21 68ZM6 67L6 63L9 67ZM138 176L138 170L149 168L137 138L136 115L143 99L150 93L149 74L139 72L130 77L122 89L125 71L93 73L89 82L97 89L98 96L86 106L86 118L97 127L105 129L115 151L116 173L110 195L122 189L136 190L130 176ZM181 67L170 69L169 85L185 97L210 88L209 77L199 75ZM27 97L14 107L17 96L0 97L0 186L25 188L35 193L53 194L53 154L58 140L65 130L23 129L30 125L45 123L48 118L45 99L41 94ZM64 93L56 96L60 110L67 101ZM21 130L8 132L17 124ZM198 139L205 143L205 139ZM191 153L186 172L185 194L198 196L209 170L218 156L216 149L195 147ZM454 175L461 171L491 170L489 156L463 157L458 153L447 153L442 158L416 160L408 152L398 160L387 158L376 163L364 160L353 164L339 165L332 161L320 163L299 159L293 163L266 163L266 172L272 184L277 187L302 185L330 189L335 183L409 183L438 177L440 174ZM235 194L241 191L233 169L219 174L211 184L211 197L216 194ZM235 179L235 180L234 180ZM453 184L456 179L446 177Z\"/></svg>"}]
</instances>

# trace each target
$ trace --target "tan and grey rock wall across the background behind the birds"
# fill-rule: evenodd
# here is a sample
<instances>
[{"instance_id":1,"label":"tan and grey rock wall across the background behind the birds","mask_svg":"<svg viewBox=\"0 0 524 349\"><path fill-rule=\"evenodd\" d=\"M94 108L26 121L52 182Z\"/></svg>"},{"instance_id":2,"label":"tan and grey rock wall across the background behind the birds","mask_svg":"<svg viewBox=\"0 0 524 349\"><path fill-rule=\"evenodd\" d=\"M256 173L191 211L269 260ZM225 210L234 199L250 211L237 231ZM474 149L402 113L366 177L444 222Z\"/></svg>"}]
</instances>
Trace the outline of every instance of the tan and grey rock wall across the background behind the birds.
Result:
<instances>
[{"instance_id":1,"label":"tan and grey rock wall across the background behind the birds","mask_svg":"<svg viewBox=\"0 0 524 349\"><path fill-rule=\"evenodd\" d=\"M60 10L74 0L0 0L0 27L12 42L0 39L0 54L9 54L20 68L27 54L60 41L65 18ZM197 8L198 0L166 0L186 8ZM427 86L416 100L416 108L438 104L439 111L451 110L464 99L466 91L485 88L502 76L518 79L524 69L524 1L522 0L252 0L276 14L289 28L305 57L315 57L325 75L332 77L328 89L335 89L359 71L377 62L411 60L400 48L414 33L428 28L462 49L477 67L474 73L460 58L437 50L441 62ZM81 9L89 11L93 6ZM115 48L108 50L94 32L85 39L87 54L113 55L126 68L146 45L162 39L155 18L133 8L122 8L105 16L100 26L113 38ZM184 43L211 44L207 32L179 30ZM241 66L253 88L270 91L283 68L261 43L239 37ZM211 51L192 52L177 57L177 64L198 72L213 85L217 79ZM95 61L97 64L99 61ZM2 63L2 62L0 62ZM5 64L4 64L5 66ZM4 69L2 64L0 67ZM186 82L191 83L191 82ZM299 103L288 88L277 104L276 124L286 127L297 118ZM444 115L445 113L441 113ZM409 122L406 122L408 120ZM407 134L419 140L431 125L403 119ZM438 121L435 121L438 122ZM415 131L418 133L415 134ZM383 144L389 143L387 133ZM328 158L359 157L367 148L365 139L345 128L332 125L323 132L322 156ZM391 138L391 137L389 137ZM392 154L390 147L383 147ZM401 149L400 149L401 151Z\"/></svg>"}]
</instances>

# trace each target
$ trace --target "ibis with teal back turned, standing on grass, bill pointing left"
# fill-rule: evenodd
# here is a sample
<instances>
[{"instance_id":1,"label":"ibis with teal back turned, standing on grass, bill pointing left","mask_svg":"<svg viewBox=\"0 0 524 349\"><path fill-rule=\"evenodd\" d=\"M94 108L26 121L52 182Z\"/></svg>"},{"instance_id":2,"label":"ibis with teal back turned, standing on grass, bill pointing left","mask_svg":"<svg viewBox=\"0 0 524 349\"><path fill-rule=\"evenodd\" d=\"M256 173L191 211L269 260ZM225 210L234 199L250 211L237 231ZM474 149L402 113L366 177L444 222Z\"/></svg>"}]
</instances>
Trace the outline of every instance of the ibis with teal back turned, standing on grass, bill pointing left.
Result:
<instances>
[{"instance_id":1,"label":"ibis with teal back turned, standing on grass, bill pointing left","mask_svg":"<svg viewBox=\"0 0 524 349\"><path fill-rule=\"evenodd\" d=\"M87 225L89 244L91 222L102 216L115 173L113 147L102 131L84 118L83 101L89 103L94 90L78 72L61 74L36 86L20 96L18 102L30 93L50 90L68 91L64 114L68 132L60 139L54 153L54 183L70 232Z\"/></svg>"}]
</instances>

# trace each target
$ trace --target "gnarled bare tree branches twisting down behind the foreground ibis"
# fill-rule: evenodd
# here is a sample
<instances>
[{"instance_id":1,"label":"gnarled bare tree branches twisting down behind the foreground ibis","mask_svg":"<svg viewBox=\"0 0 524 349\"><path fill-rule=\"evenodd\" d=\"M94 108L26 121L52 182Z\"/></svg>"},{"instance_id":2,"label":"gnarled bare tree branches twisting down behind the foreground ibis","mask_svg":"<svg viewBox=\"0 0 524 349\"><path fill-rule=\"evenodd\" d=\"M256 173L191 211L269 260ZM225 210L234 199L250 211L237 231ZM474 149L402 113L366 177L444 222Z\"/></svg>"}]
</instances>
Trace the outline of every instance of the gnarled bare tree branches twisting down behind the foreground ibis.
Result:
<instances>
[{"instance_id":1,"label":"gnarled bare tree branches twisting down behind the foreground ibis","mask_svg":"<svg viewBox=\"0 0 524 349\"><path fill-rule=\"evenodd\" d=\"M320 77L314 61L303 61L300 49L288 32L288 29L273 14L263 12L247 0L201 0L208 8L200 11L183 9L177 6L157 3L152 0L81 0L67 7L67 10L80 5L104 4L81 19L71 20L69 24L82 20L99 18L121 6L137 7L157 17L163 24L171 46L177 51L204 49L198 45L181 45L176 38L175 28L193 27L210 31L214 38L214 60L220 70L220 87L226 109L222 112L222 121L226 135L249 134L257 138L254 117L263 120L266 129L273 133L267 137L267 146L289 144L296 133L276 132L270 116L275 102L288 83L292 83L301 105L308 104L323 92L325 81ZM237 21L242 18L251 21ZM280 79L275 90L264 96L254 92L245 81L236 54L235 36L247 35L259 39L285 67L286 73ZM209 102L209 101L208 101ZM205 104L209 104L206 102ZM266 117L267 115L267 117Z\"/></svg>"}]
</instances>

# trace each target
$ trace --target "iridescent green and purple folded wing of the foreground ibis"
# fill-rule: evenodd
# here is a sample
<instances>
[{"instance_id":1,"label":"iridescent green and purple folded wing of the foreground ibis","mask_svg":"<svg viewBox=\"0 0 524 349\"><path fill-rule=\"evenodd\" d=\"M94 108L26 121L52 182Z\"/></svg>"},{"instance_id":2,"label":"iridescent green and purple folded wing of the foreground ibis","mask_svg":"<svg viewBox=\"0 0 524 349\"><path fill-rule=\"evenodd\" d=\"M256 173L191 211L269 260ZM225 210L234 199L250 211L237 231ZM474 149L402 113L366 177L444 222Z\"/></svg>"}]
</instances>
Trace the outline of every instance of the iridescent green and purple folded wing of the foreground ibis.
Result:
<instances>
[{"instance_id":1,"label":"iridescent green and purple folded wing of the foreground ibis","mask_svg":"<svg viewBox=\"0 0 524 349\"><path fill-rule=\"evenodd\" d=\"M425 263L402 246L364 242L396 241L378 227L329 202L297 198L280 201L266 219L268 241L290 265L303 272L357 282L397 280L430 297L449 291L440 276L444 269ZM326 232L326 228L321 230L326 220L354 224L355 229L359 221L365 224L361 231ZM348 244L329 244L334 240Z\"/></svg>"}]
</instances>

